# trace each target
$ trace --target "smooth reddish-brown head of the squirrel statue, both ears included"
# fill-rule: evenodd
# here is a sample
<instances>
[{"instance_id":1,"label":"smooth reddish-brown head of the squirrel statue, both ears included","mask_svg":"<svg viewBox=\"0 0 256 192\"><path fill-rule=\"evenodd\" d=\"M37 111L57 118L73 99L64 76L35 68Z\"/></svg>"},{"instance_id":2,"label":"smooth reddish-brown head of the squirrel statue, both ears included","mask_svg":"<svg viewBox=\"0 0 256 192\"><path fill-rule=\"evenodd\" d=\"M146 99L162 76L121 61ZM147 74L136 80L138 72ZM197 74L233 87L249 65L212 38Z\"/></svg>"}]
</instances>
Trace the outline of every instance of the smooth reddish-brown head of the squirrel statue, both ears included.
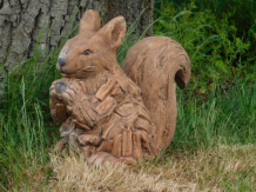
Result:
<instances>
[{"instance_id":1,"label":"smooth reddish-brown head of the squirrel statue, both ears included","mask_svg":"<svg viewBox=\"0 0 256 192\"><path fill-rule=\"evenodd\" d=\"M122 16L100 28L98 13L87 10L81 18L79 34L69 39L59 54L58 71L64 77L88 78L103 70L115 70L119 67L116 49L124 38L125 29Z\"/></svg>"}]
</instances>

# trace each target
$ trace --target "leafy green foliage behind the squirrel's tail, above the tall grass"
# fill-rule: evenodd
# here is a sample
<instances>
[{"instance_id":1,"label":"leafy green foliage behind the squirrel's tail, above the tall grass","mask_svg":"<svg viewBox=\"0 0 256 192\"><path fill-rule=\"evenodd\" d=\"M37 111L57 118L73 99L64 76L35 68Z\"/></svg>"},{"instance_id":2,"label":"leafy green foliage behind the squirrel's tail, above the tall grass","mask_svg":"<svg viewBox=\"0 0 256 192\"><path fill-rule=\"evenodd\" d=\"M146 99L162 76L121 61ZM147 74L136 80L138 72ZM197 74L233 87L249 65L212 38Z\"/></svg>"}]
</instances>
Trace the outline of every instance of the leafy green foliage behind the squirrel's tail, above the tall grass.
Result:
<instances>
[{"instance_id":1,"label":"leafy green foliage behind the squirrel's tail, above the tall grass","mask_svg":"<svg viewBox=\"0 0 256 192\"><path fill-rule=\"evenodd\" d=\"M177 40L188 52L196 92L208 97L219 83L228 85L241 77L248 82L255 81L253 40L238 33L240 29L233 18L237 12L223 12L216 8L222 5L217 3L215 10L208 9L209 2L220 1L187 2L181 5L174 1L156 2L158 22L154 33Z\"/></svg>"}]
</instances>

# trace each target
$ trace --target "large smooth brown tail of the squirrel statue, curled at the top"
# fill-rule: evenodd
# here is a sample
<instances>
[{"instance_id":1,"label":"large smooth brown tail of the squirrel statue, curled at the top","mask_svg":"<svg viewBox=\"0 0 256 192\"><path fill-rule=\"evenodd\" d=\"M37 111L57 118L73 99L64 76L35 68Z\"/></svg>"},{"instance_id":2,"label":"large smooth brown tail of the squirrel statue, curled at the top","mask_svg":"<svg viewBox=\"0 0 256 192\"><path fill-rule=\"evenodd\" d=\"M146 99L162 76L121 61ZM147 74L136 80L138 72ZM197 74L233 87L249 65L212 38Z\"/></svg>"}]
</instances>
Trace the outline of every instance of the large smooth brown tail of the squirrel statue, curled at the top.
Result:
<instances>
[{"instance_id":1,"label":"large smooth brown tail of the squirrel statue, curled at the top","mask_svg":"<svg viewBox=\"0 0 256 192\"><path fill-rule=\"evenodd\" d=\"M176 84L185 88L191 74L187 53L168 37L146 37L127 53L123 70L140 88L156 125L156 148L166 148L176 126Z\"/></svg>"}]
</instances>

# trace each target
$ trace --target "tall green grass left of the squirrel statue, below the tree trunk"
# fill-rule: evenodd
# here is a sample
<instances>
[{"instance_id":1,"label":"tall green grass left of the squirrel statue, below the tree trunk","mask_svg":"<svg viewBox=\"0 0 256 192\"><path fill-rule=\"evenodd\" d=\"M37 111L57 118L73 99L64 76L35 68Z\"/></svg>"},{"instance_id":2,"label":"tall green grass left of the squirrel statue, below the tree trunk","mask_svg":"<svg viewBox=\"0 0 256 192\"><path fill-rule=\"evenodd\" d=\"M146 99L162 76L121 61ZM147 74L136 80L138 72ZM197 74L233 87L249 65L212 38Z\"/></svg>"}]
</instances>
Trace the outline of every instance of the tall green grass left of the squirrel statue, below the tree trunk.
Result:
<instances>
[{"instance_id":1,"label":"tall green grass left of the squirrel statue, below the tree trunk","mask_svg":"<svg viewBox=\"0 0 256 192\"><path fill-rule=\"evenodd\" d=\"M5 98L0 104L2 187L11 184L18 190L20 182L29 180L28 168L45 165L49 161L49 148L56 140L53 133L57 133L56 127L49 124L48 111L48 90L56 78L55 65L49 65L56 60L56 56L50 59L52 54L40 63L38 69L40 53L34 53L19 74L9 72L3 81ZM44 72L40 68L48 69Z\"/></svg>"}]
</instances>

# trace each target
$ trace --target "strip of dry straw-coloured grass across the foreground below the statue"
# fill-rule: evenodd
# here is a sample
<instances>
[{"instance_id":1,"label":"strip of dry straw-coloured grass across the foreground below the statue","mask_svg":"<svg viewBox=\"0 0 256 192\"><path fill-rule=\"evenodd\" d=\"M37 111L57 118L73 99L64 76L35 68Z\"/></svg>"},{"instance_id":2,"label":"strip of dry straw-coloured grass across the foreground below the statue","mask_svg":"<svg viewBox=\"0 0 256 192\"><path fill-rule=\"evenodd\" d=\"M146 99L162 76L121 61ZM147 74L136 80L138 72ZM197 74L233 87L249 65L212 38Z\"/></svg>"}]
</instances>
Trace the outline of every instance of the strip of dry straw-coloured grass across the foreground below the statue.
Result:
<instances>
[{"instance_id":1,"label":"strip of dry straw-coloured grass across the foreground below the statue","mask_svg":"<svg viewBox=\"0 0 256 192\"><path fill-rule=\"evenodd\" d=\"M173 151L161 163L132 167L94 167L52 155L54 177L44 191L240 191L242 185L256 191L255 157L255 144L218 145L194 154Z\"/></svg>"}]
</instances>

